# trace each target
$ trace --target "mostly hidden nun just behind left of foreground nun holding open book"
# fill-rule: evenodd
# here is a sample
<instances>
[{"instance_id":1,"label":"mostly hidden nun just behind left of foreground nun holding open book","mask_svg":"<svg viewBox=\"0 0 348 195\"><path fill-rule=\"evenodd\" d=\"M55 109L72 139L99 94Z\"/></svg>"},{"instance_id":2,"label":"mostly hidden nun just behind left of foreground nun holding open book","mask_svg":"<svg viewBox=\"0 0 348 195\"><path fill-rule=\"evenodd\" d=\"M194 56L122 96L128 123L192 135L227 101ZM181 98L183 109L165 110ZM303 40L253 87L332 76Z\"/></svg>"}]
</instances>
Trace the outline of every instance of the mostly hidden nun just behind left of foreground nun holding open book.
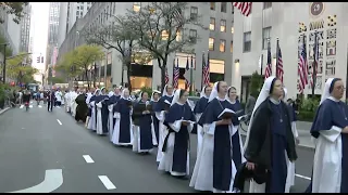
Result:
<instances>
[{"instance_id":1,"label":"mostly hidden nun just behind left of foreground nun holding open book","mask_svg":"<svg viewBox=\"0 0 348 195\"><path fill-rule=\"evenodd\" d=\"M200 99L198 100L194 108L194 113L196 115L197 121L199 121L200 117L206 110L210 93L211 93L211 87L204 86L202 91L200 92ZM199 154L199 150L202 146L202 141L203 141L203 127L201 127L200 125L197 125L197 155Z\"/></svg>"}]
</instances>

